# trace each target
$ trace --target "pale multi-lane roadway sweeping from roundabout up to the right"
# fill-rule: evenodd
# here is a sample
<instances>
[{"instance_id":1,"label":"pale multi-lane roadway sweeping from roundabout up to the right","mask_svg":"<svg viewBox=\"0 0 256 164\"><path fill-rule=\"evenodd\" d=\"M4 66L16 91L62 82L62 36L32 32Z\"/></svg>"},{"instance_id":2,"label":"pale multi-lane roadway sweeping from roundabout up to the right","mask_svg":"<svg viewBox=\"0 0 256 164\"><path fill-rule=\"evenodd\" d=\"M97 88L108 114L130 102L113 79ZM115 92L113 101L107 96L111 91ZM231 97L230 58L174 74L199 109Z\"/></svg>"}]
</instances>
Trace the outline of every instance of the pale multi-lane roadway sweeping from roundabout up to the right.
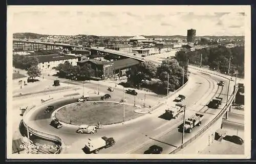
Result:
<instances>
[{"instance_id":1,"label":"pale multi-lane roadway sweeping from roundabout up to the right","mask_svg":"<svg viewBox=\"0 0 256 164\"><path fill-rule=\"evenodd\" d=\"M204 107L205 104L207 104L212 97L216 96L216 94L219 96L220 93L222 94L220 97L223 97L223 101L225 102L225 92L227 91L227 87L225 85L224 89L222 89L222 87L218 87L216 85L217 82L223 80L223 78L201 74L193 70L191 70L190 78L193 79L195 83L179 93L186 95L186 100L184 101L187 106L186 116L189 116L195 113L195 111L199 110L204 112L205 118L202 126L200 126L203 127L211 120L214 114L220 111L220 109L209 109L206 111L206 107ZM174 99L174 97L171 98L172 100ZM168 101L168 105L174 105L172 100ZM63 99L63 101L54 104L54 106L57 108L58 106L60 107L67 103L72 103L73 101L75 100L69 100L68 98ZM74 127L62 127L60 129L51 127L49 125L50 115L46 115L43 112L45 107L50 104L42 105L39 110L32 112L29 119L29 125L37 130L60 136L65 141L65 144L70 146L70 148L66 149L63 153L83 153L81 150L83 148L83 143L87 142L89 137L93 139L104 135L114 137L116 140L116 145L108 149L103 149L100 151L100 153L143 154L143 152L149 146L152 144L159 145L159 143L162 144L159 146L164 148L163 153L169 153L169 151L179 146L179 143L181 142L182 134L177 131L177 127L182 122L183 114L180 114L176 120L168 121L161 119L159 116L164 113L165 105L161 106L152 114L145 114L144 116L141 116L141 119L138 119L135 122L125 123L124 125L104 127L96 134L90 135L77 134L75 133L76 128ZM150 124L150 126L148 126L148 124ZM194 128L193 133L191 134L185 134L185 141L191 135L195 135L195 133L200 130L200 127ZM161 142L156 140L160 140Z\"/></svg>"}]
</instances>

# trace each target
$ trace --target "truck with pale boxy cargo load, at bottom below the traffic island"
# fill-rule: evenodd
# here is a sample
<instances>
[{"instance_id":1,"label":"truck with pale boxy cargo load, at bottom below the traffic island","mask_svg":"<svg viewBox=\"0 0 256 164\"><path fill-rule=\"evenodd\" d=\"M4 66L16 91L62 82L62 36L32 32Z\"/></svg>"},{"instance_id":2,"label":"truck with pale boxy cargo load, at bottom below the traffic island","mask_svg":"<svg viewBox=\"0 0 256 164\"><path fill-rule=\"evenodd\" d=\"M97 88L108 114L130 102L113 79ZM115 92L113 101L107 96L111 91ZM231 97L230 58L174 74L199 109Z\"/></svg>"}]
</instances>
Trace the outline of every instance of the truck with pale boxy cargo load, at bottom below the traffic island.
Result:
<instances>
[{"instance_id":1,"label":"truck with pale boxy cargo load, at bottom below the traffic island","mask_svg":"<svg viewBox=\"0 0 256 164\"><path fill-rule=\"evenodd\" d=\"M93 140L89 138L88 143L85 144L83 149L87 154L90 154L90 153L97 154L99 153L100 149L111 147L115 145L115 143L116 142L113 137L103 136Z\"/></svg>"}]
</instances>

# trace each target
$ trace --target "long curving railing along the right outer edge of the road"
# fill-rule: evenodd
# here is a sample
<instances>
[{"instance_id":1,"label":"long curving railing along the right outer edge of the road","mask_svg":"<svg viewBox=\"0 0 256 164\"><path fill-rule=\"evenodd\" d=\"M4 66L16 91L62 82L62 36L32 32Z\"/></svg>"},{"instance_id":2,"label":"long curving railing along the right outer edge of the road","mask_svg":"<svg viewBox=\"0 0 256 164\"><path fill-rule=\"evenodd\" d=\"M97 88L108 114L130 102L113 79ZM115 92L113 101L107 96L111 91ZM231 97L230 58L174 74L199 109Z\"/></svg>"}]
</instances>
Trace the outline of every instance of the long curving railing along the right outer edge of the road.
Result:
<instances>
[{"instance_id":1,"label":"long curving railing along the right outer edge of the road","mask_svg":"<svg viewBox=\"0 0 256 164\"><path fill-rule=\"evenodd\" d=\"M191 137L189 140L187 140L187 142L185 142L184 144L180 145L179 147L177 147L175 150L173 150L169 154L177 153L182 148L186 147L188 144L190 144L195 139L197 139L201 134L203 134L206 130L208 130L209 127L211 127L213 124L215 124L223 116L223 114L226 111L226 109L230 106L230 104L232 103L232 101L234 99L234 96L236 96L237 91L238 91L238 87L236 87L236 90L234 90L232 92L232 95L229 97L229 99L227 101L228 103L222 108L221 112L219 112L219 114L216 115L216 117L210 123L208 123L203 129L201 129L194 137Z\"/></svg>"}]
</instances>

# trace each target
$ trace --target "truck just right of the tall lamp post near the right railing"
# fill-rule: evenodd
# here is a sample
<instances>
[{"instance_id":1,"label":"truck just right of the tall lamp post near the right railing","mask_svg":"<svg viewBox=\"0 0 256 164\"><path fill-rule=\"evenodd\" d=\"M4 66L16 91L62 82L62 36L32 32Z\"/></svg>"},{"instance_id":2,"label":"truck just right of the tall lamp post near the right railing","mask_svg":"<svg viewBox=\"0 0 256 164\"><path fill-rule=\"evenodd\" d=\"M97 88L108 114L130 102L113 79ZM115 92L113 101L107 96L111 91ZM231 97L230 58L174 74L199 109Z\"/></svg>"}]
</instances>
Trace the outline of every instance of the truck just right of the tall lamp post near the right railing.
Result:
<instances>
[{"instance_id":1,"label":"truck just right of the tall lamp post near the right railing","mask_svg":"<svg viewBox=\"0 0 256 164\"><path fill-rule=\"evenodd\" d=\"M196 113L194 115L191 115L188 119L185 120L185 126L184 126L184 131L191 133L192 129L195 126L200 126L201 121L203 120L203 114ZM183 127L182 127L183 128Z\"/></svg>"}]
</instances>

